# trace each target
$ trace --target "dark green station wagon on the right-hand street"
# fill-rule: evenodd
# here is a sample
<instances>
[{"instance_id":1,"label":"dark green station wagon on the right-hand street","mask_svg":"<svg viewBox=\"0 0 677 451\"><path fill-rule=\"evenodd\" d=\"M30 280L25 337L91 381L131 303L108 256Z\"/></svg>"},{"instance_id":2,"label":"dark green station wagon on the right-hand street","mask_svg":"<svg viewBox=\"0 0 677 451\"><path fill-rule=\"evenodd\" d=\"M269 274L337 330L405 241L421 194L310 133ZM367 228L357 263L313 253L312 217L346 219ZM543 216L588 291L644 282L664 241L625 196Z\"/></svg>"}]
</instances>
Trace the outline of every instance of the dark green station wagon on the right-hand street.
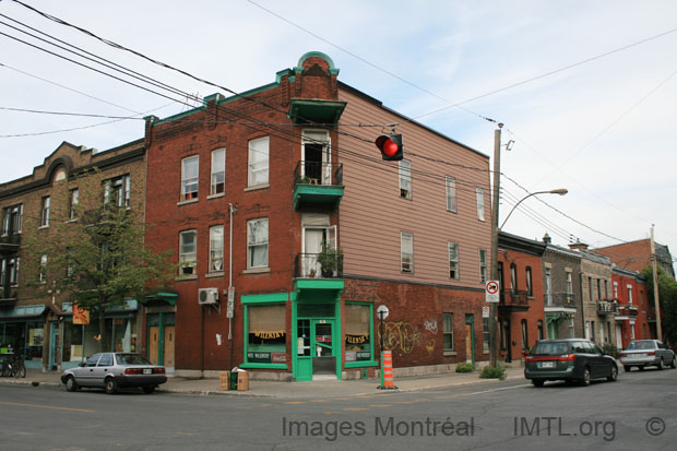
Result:
<instances>
[{"instance_id":1,"label":"dark green station wagon on the right-hand street","mask_svg":"<svg viewBox=\"0 0 677 451\"><path fill-rule=\"evenodd\" d=\"M593 379L618 378L614 357L604 354L596 344L584 339L542 340L525 358L524 377L535 387L548 380L578 381L590 385Z\"/></svg>"}]
</instances>

